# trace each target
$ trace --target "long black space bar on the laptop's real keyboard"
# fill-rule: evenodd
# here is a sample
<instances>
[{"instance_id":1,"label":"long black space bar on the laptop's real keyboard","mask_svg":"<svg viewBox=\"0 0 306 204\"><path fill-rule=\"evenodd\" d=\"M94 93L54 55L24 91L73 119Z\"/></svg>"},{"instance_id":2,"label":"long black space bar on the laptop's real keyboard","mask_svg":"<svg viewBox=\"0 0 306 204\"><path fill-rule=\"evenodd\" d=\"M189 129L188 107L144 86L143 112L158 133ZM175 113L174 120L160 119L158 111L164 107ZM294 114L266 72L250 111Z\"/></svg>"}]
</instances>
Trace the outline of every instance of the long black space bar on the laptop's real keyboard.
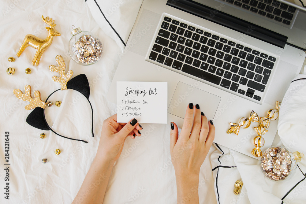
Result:
<instances>
[{"instance_id":1,"label":"long black space bar on the laptop's real keyboard","mask_svg":"<svg viewBox=\"0 0 306 204\"><path fill-rule=\"evenodd\" d=\"M206 80L208 82L219 85L221 81L221 77L211 74L209 72L205 72L201 69L192 67L190 65L184 64L182 68L182 72L190 74L192 76L198 77L200 79Z\"/></svg>"}]
</instances>

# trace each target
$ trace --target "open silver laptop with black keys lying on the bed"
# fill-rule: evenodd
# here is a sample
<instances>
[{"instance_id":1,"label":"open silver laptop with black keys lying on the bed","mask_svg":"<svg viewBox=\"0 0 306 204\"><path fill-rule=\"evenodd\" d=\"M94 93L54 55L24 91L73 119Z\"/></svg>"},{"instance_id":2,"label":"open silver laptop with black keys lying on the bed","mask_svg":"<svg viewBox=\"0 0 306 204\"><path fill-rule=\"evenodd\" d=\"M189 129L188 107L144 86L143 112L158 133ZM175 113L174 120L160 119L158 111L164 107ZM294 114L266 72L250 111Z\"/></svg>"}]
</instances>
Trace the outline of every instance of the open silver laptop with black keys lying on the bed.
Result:
<instances>
[{"instance_id":1,"label":"open silver laptop with black keys lying on the bed","mask_svg":"<svg viewBox=\"0 0 306 204\"><path fill-rule=\"evenodd\" d=\"M216 127L215 143L254 157L259 123L238 135L227 134L229 123L252 110L266 117L282 101L305 59L306 12L299 9L293 25L284 27L228 2L144 0L108 98L116 103L117 81L168 82L169 124L181 128L188 104L199 104ZM277 121L271 121L262 151L276 132Z\"/></svg>"}]
</instances>

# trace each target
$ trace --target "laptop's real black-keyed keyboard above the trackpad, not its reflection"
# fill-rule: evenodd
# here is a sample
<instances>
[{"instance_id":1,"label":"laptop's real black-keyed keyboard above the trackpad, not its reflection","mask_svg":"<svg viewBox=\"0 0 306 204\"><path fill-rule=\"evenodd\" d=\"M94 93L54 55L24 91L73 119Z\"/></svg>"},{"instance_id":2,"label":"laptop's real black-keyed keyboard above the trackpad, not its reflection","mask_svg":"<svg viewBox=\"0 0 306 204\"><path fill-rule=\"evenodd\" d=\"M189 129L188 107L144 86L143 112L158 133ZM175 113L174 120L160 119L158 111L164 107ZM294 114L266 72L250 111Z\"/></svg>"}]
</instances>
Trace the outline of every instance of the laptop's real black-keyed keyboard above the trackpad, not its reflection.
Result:
<instances>
[{"instance_id":1,"label":"laptop's real black-keyed keyboard above the trackpad, not its reflection","mask_svg":"<svg viewBox=\"0 0 306 204\"><path fill-rule=\"evenodd\" d=\"M279 57L164 13L146 60L262 103Z\"/></svg>"}]
</instances>

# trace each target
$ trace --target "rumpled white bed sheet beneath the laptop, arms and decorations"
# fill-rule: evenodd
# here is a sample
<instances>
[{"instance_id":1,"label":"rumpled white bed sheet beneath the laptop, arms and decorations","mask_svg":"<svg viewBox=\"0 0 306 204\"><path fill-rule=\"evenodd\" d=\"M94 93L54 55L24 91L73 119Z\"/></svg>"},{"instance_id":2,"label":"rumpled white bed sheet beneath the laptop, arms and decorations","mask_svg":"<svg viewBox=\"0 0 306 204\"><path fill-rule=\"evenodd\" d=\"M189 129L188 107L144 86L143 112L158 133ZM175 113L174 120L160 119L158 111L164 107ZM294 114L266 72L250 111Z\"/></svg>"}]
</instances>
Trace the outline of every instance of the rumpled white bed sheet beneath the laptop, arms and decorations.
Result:
<instances>
[{"instance_id":1,"label":"rumpled white bed sheet beneath the laptop, arms and decorations","mask_svg":"<svg viewBox=\"0 0 306 204\"><path fill-rule=\"evenodd\" d=\"M124 47L122 41L126 43L129 37L140 4L139 0L0 2L0 192L4 192L4 164L10 164L9 200L1 193L0 203L72 202L95 157L102 122L116 112L116 105L107 100L106 93L120 60ZM102 13L105 18L101 17ZM52 17L62 35L54 37L39 66L35 67L31 65L35 49L26 48L19 58L15 54L26 34L35 34L40 38L47 36L47 24L43 23L41 15ZM70 59L67 47L72 25L99 36L104 47L99 62L80 66ZM84 73L88 78L95 138L91 137L90 106L76 91L58 91L52 95L50 100L62 101L62 106L47 107L46 118L56 132L87 140L88 144L64 139L28 125L25 119L31 111L24 109L28 102L20 101L13 95L14 88L24 91L24 85L29 84L32 92L40 91L44 101L58 89L59 84L51 80L53 75L58 75L48 69L51 64L57 66L55 56L58 54L65 59L66 72L73 70L73 77ZM11 56L16 59L13 63L7 61ZM8 67L16 69L14 75L6 74ZM26 75L26 68L31 68L32 74ZM169 152L170 125L142 126L144 129L140 138L126 139L121 157L114 165L104 203L176 203L176 181ZM9 132L9 162L4 160L5 132ZM46 133L46 139L39 138L42 132ZM281 144L277 139L274 143ZM54 154L57 148L62 151L59 155ZM43 158L48 159L46 164L41 162ZM200 203L281 203L281 198L300 180L283 200L284 203L305 203L304 166L302 162L301 171L298 169L288 182L273 183L264 180L258 160L214 145L201 167ZM241 179L244 182L241 194L234 195L234 183Z\"/></svg>"}]
</instances>

